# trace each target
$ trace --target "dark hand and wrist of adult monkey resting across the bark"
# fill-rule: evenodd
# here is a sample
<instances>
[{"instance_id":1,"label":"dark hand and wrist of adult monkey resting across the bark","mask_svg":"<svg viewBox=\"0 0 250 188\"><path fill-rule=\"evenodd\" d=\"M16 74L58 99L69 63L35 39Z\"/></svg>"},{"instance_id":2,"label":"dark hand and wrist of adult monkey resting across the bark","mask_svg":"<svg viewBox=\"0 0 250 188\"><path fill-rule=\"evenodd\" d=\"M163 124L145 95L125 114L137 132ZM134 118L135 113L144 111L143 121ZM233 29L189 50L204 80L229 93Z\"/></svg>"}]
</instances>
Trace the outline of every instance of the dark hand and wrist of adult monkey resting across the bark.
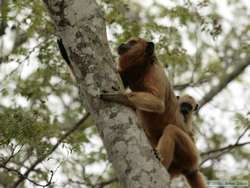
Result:
<instances>
[{"instance_id":1,"label":"dark hand and wrist of adult monkey resting across the bark","mask_svg":"<svg viewBox=\"0 0 250 188\"><path fill-rule=\"evenodd\" d=\"M128 99L128 93L123 92L112 92L112 93L103 93L100 95L100 98L105 101L116 102L123 104L128 107L134 108L134 105Z\"/></svg>"}]
</instances>

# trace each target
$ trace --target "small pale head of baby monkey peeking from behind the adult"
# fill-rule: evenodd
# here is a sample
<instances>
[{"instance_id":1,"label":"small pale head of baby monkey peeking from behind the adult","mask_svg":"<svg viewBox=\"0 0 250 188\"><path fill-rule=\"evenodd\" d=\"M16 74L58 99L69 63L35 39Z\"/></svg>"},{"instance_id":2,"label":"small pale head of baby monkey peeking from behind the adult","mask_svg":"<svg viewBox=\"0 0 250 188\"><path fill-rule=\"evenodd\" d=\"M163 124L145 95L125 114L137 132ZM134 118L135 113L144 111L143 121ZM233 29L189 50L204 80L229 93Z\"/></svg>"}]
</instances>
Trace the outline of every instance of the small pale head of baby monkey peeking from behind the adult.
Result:
<instances>
[{"instance_id":1,"label":"small pale head of baby monkey peeking from behind the adult","mask_svg":"<svg viewBox=\"0 0 250 188\"><path fill-rule=\"evenodd\" d=\"M180 112L186 117L192 112L198 110L199 105L197 104L196 100L191 97L190 95L183 95L181 97L177 96L178 103L180 105Z\"/></svg>"}]
</instances>

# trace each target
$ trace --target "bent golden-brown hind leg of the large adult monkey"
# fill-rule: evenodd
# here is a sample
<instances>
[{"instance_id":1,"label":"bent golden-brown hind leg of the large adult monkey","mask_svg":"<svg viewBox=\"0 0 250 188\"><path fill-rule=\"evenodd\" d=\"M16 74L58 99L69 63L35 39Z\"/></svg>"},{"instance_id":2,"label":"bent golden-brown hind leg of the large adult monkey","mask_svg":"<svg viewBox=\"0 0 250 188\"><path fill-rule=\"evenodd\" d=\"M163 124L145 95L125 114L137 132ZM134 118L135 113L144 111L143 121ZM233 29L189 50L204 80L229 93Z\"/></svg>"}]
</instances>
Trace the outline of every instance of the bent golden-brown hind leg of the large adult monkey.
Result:
<instances>
[{"instance_id":1,"label":"bent golden-brown hind leg of the large adult monkey","mask_svg":"<svg viewBox=\"0 0 250 188\"><path fill-rule=\"evenodd\" d=\"M157 150L166 168L169 168L173 159L178 160L192 188L207 187L203 175L198 170L198 152L196 146L191 138L180 128L168 125L158 142Z\"/></svg>"}]
</instances>

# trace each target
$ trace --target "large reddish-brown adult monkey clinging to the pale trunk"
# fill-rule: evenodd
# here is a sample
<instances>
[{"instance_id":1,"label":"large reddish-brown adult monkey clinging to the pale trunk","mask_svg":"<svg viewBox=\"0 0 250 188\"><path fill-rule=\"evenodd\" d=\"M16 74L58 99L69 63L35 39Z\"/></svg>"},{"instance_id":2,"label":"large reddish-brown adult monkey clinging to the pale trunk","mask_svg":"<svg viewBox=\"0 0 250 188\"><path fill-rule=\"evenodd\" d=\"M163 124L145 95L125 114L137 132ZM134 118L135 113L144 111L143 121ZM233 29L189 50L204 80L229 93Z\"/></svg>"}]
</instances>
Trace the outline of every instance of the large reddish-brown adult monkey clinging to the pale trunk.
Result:
<instances>
[{"instance_id":1,"label":"large reddish-brown adult monkey clinging to the pale trunk","mask_svg":"<svg viewBox=\"0 0 250 188\"><path fill-rule=\"evenodd\" d=\"M198 152L188 136L177 98L154 43L133 38L118 47L118 71L130 93L103 94L104 100L136 110L138 119L171 176L184 174L193 188L205 188L198 170Z\"/></svg>"}]
</instances>

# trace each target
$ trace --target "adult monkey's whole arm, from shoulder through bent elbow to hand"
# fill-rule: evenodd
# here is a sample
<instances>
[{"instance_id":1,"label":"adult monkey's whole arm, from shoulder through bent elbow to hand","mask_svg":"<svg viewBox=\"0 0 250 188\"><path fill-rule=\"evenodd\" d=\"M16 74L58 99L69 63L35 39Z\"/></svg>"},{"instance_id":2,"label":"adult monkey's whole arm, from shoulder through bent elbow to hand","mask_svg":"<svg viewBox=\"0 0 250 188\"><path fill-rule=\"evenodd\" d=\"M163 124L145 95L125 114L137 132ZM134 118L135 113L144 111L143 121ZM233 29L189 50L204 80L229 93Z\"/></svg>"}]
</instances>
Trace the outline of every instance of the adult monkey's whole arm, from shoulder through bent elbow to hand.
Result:
<instances>
[{"instance_id":1,"label":"adult monkey's whole arm, from shoulder through bent elbow to hand","mask_svg":"<svg viewBox=\"0 0 250 188\"><path fill-rule=\"evenodd\" d=\"M159 65L152 65L144 77L144 91L130 93L103 94L101 98L146 112L163 113L165 110L165 73Z\"/></svg>"}]
</instances>

